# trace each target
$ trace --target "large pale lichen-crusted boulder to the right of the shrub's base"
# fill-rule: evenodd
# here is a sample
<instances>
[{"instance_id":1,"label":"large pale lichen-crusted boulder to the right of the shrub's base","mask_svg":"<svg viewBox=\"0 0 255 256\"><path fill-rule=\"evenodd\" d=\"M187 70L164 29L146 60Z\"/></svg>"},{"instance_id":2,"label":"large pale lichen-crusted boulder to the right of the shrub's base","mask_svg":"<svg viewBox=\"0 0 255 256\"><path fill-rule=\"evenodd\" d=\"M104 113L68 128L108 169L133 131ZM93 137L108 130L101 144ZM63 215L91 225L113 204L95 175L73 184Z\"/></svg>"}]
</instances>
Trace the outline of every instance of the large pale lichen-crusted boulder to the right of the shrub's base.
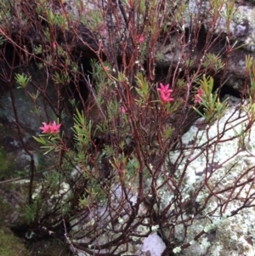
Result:
<instances>
[{"instance_id":1,"label":"large pale lichen-crusted boulder to the right of the shrub's base","mask_svg":"<svg viewBox=\"0 0 255 256\"><path fill-rule=\"evenodd\" d=\"M182 255L252 256L255 254L253 225L255 207L252 203L255 193L253 185L255 126L243 133L248 121L251 120L251 112L246 114L246 108L247 105L242 109L244 111L241 111L239 105L232 105L224 117L219 122L214 122L211 127L202 127L202 120L198 120L182 137L183 146L195 144L197 148L185 151L186 157L182 162L177 160L180 152L172 156L171 161L178 162L178 172L182 172L187 162L195 159L189 163L186 170L183 195L194 193L205 179L208 179L208 186L200 191L195 202L203 204L210 190L217 195L210 198L202 212L208 218L199 219L197 216L189 226L184 243L190 242L192 245L186 248ZM241 185L247 180L249 182L246 185ZM233 184L236 185L234 190L217 194L218 191L227 189ZM169 200L169 196L165 195L165 200ZM250 199L246 201L248 197ZM249 204L252 207L241 209L243 206L248 207ZM229 214L237 209L241 209L238 214L229 217ZM207 233L206 236L193 241L201 230ZM182 225L177 227L175 236L178 239L184 238Z\"/></svg>"}]
</instances>

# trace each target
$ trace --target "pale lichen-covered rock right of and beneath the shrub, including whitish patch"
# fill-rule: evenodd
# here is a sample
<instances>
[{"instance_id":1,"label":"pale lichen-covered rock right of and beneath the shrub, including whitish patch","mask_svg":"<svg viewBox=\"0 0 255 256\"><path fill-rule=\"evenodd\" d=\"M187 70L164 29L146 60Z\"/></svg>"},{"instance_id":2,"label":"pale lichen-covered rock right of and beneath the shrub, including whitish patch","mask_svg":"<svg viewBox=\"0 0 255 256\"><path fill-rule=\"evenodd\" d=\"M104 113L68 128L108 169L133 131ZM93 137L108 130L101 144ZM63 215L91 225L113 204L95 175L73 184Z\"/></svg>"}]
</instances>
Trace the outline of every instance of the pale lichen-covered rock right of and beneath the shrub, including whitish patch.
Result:
<instances>
[{"instance_id":1,"label":"pale lichen-covered rock right of and beneath the shrub, including whitish patch","mask_svg":"<svg viewBox=\"0 0 255 256\"><path fill-rule=\"evenodd\" d=\"M190 247L182 251L178 247L175 248L174 252L179 252L179 255L252 256L255 254L255 228L253 225L255 222L253 202L255 194L253 185L255 125L247 128L252 121L251 109L249 108L251 105L248 102L243 102L242 107L240 106L240 100L230 98L229 109L225 112L224 117L213 122L210 126L203 125L203 119L199 119L182 137L182 146L187 149L170 153L170 161L178 166L174 174L176 181L183 174L185 165L188 166L184 173L184 181L178 188L182 190L183 202L188 200L190 195L193 195L207 179L207 186L199 191L195 199L195 204L205 205L202 212L195 217L192 213L185 212L180 214L180 219L168 219L169 224L177 223L181 219L193 219L185 233L184 225L175 225L174 236L176 241L180 242L179 246L190 243ZM178 158L180 155L184 157ZM164 178L158 179L156 185L160 187L163 180ZM242 185L244 183L246 184ZM150 179L148 179L148 184L150 184ZM228 190L233 185L235 185L234 188ZM211 191L215 196L209 197L208 202L205 202ZM221 192L218 193L218 191ZM113 208L117 208L121 194L121 187L116 186L111 202ZM166 185L158 190L158 195L161 196L162 209L169 205L173 199L173 193L167 189ZM129 196L130 200L136 202L135 189L130 192ZM175 205L172 204L168 212L171 213L174 208ZM128 204L127 206L123 205L122 209L127 211ZM145 213L146 207L140 207L139 216L144 216ZM109 219L108 210L104 207L98 208L96 215L101 219L101 225L104 225L104 222ZM93 215L83 219L84 223L79 221L77 236L81 236L84 230L93 226L94 221ZM119 218L115 229L126 221L125 215ZM144 219L144 224L147 223L146 221ZM152 227L152 230L156 231L157 227ZM145 235L148 234L148 231L139 226L135 232L139 235ZM167 234L167 229L165 231ZM205 234L194 241L195 236L201 231L204 231ZM104 236L100 236L95 243L104 244L113 235L121 236L121 234L111 234L109 231ZM89 238L84 237L79 242L88 241ZM122 248L124 247L120 247L120 249ZM133 242L128 243L126 253L127 255L160 256L164 248L165 245L161 238L152 232L147 238L139 238L139 240L133 236ZM80 255L87 254L80 253Z\"/></svg>"}]
</instances>

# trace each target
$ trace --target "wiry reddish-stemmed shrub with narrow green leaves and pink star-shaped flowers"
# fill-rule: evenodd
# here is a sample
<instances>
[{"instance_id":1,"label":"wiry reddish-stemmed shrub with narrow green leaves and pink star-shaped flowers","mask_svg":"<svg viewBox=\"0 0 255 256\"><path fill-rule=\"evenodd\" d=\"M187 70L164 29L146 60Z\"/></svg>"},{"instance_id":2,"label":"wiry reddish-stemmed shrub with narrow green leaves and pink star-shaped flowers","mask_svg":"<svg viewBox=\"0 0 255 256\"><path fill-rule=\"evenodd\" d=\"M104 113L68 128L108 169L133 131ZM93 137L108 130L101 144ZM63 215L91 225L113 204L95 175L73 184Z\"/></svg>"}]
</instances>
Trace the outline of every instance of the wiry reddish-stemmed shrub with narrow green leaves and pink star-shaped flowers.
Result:
<instances>
[{"instance_id":1,"label":"wiry reddish-stemmed shrub with narrow green leaves and pink star-shaped flowers","mask_svg":"<svg viewBox=\"0 0 255 256\"><path fill-rule=\"evenodd\" d=\"M188 167L198 156L186 161L184 153L196 148L200 154L207 152L212 139L199 145L195 137L193 145L184 146L181 136L197 117L203 117L202 125L210 127L227 110L227 100L219 94L228 56L234 51L229 29L234 2L200 1L196 6L166 0L77 1L71 2L72 7L43 0L0 4L0 54L5 65L1 76L8 83L13 105L17 82L31 95L33 114L41 119L40 113L45 112L44 128L53 121L61 123L59 133L47 133L46 127L45 134L35 139L53 163L51 169L59 174L59 190L65 182L71 192L67 197L66 191L52 197L58 182L51 183L51 179L44 182L48 186L42 185L45 193L40 200L30 192L29 219L36 233L42 225L57 232L63 223L60 233L71 247L90 255L125 253L128 244L156 230L166 243L165 253L190 247L186 235L177 239L177 230L180 226L188 230L197 219L203 223L214 213L203 209L217 195L212 191L193 208L210 177L202 179L190 195L185 194ZM216 33L223 14L226 34ZM211 52L222 40L224 58ZM12 59L5 54L8 48L13 51ZM167 71L160 69L167 56L163 51L171 60ZM251 112L247 127L251 127L254 68L250 57L246 75L252 81L246 105ZM28 85L37 93L32 94ZM40 97L44 106L37 104ZM20 129L15 105L14 113ZM214 143L224 133L225 129ZM243 130L248 133L248 128ZM23 145L31 156L32 183L33 155ZM180 153L173 161L174 151ZM186 161L182 170L179 161ZM232 185L231 190L237 187ZM171 196L163 200L160 192L167 191ZM54 207L42 210L49 198L54 198ZM251 205L244 202L241 208ZM221 213L218 219L238 211L227 216ZM215 226L201 227L194 240Z\"/></svg>"}]
</instances>

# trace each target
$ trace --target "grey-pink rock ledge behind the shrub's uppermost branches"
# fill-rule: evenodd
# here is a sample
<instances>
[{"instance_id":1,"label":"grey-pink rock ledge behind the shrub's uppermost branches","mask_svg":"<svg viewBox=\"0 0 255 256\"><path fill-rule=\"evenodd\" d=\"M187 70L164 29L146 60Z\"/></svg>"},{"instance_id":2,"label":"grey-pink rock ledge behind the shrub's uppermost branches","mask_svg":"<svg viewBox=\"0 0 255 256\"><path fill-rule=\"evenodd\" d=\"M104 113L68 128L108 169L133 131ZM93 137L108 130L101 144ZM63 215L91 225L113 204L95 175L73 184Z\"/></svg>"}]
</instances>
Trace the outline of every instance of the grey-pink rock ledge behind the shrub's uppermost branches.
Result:
<instances>
[{"instance_id":1,"label":"grey-pink rock ledge behind the shrub's uppermost branches","mask_svg":"<svg viewBox=\"0 0 255 256\"><path fill-rule=\"evenodd\" d=\"M250 54L251 56L255 57L255 6L253 1L236 1L233 10L233 20L228 25L228 20L226 20L226 12L229 11L230 3L233 1L226 0L222 2L224 2L224 4L220 5L217 9L217 13L219 15L216 21L216 26L213 28L211 27L212 12L213 9L215 9L215 5L213 5L212 1L208 0L188 1L187 8L184 10L184 19L182 23L178 22L178 20L174 20L174 18L169 22L177 22L179 29L185 30L187 33L190 33L190 28L192 29L195 22L201 22L203 24L202 29L204 33L212 32L214 33L215 37L219 36L218 41L214 44L214 46L212 46L212 48L209 49L207 54L219 54L223 58L227 50L226 37L228 35L231 48L235 50L231 50L227 60L226 84L237 88L239 91L242 91L242 83L243 79L245 78L246 55ZM123 17L123 14L125 13L124 11L127 9L127 7L125 7L126 3L121 4L121 2L118 3L115 1L113 1L113 3L116 4L116 9L120 14L118 22L125 24L126 20L128 19L128 17ZM48 8L52 8L56 14L64 14L63 8L65 8L65 12L67 14L70 14L69 22L71 22L73 26L70 26L70 29L66 31L65 37L63 36L61 30L59 30L56 38L58 43L64 48L67 47L71 42L71 45L69 45L68 48L71 48L77 53L82 52L83 56L91 58L93 55L95 55L91 49L98 51L100 47L100 49L104 51L104 47L107 48L107 42L112 40L109 38L110 34L108 30L112 31L116 29L115 17L108 14L109 16L106 17L106 27L100 13L101 9L106 7L107 1L99 1L99 3L95 3L91 0L83 0L81 2L64 1L62 5L55 3L54 1L49 1L48 3L44 4L47 4ZM19 12L18 6L19 5L17 5L16 12ZM22 8L27 9L27 12L33 11L31 10L31 7L26 5L22 6ZM99 20L97 26L94 26L94 14L97 14L97 19ZM171 15L172 14L169 14L169 16ZM108 20L111 20L111 22L108 22ZM24 20L24 22L25 21L26 20ZM89 29L84 24L87 24ZM17 31L20 31L20 27L17 27ZM29 26L29 29L26 26L26 30L23 32L25 33L24 37L26 38L27 42L33 41L35 45L40 43L40 38L37 38L37 31L34 31L33 26ZM20 31L21 34L23 32L22 30ZM119 38L117 37L119 36L115 35L114 40L119 41ZM99 38L104 39L103 44L101 44ZM163 41L165 41L165 39ZM184 57L181 54L181 45L174 33L171 34L171 38L167 39L167 43L163 43L163 41L158 42L157 45L157 55L161 55L161 58L157 58L156 65L158 67L166 68L168 68L169 65L174 67L177 65L179 58L183 59ZM203 53L201 52L203 43L205 42L203 38L201 38L201 42L194 50L192 59L203 57ZM188 48L190 49L190 47ZM188 48L187 51L189 50ZM196 66L194 66L194 68L195 67Z\"/></svg>"}]
</instances>

